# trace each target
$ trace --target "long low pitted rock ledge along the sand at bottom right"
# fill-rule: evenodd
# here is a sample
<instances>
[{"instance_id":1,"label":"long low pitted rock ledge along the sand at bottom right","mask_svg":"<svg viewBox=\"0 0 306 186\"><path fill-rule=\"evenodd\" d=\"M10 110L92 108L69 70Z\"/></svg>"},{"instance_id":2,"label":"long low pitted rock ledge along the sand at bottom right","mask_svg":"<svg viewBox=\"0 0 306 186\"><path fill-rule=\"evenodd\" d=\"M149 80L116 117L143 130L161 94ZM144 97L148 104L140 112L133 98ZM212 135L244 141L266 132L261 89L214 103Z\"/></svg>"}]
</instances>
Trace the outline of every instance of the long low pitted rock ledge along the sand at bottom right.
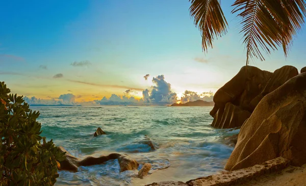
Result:
<instances>
[{"instance_id":1,"label":"long low pitted rock ledge along the sand at bottom right","mask_svg":"<svg viewBox=\"0 0 306 186\"><path fill-rule=\"evenodd\" d=\"M259 177L263 174L283 170L288 166L288 160L283 157L278 157L273 160L267 161L262 165L255 165L246 169L240 169L232 172L192 179L187 181L186 183L190 186L233 185Z\"/></svg>"}]
</instances>

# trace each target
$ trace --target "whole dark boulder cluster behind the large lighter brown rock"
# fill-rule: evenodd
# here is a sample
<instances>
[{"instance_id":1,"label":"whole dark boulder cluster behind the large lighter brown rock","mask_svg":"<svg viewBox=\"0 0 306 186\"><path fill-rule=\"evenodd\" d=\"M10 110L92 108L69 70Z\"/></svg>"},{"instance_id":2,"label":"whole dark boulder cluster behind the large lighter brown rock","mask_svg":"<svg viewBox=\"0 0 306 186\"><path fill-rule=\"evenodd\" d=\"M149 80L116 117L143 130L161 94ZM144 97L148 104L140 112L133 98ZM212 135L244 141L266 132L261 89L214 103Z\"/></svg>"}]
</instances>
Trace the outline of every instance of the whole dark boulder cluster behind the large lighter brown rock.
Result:
<instances>
[{"instance_id":1,"label":"whole dark boulder cluster behind the large lighter brown rock","mask_svg":"<svg viewBox=\"0 0 306 186\"><path fill-rule=\"evenodd\" d=\"M261 99L296 76L293 66L284 66L273 73L257 67L244 66L214 95L215 106L210 112L216 128L240 127Z\"/></svg>"}]
</instances>

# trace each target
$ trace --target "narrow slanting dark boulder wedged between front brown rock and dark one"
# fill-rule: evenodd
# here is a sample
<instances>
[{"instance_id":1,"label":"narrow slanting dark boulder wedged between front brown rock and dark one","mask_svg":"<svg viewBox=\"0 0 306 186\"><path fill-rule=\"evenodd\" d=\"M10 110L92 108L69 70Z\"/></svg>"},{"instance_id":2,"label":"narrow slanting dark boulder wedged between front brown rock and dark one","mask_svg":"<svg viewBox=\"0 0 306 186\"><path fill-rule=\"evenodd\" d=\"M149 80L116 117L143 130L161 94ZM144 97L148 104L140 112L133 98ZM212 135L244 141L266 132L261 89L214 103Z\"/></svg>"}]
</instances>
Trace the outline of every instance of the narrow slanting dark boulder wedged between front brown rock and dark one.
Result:
<instances>
[{"instance_id":1,"label":"narrow slanting dark boulder wedged between front brown rock and dark one","mask_svg":"<svg viewBox=\"0 0 306 186\"><path fill-rule=\"evenodd\" d=\"M283 66L282 68L276 69L272 76L270 77L269 81L267 82L264 90L256 96L250 102L250 107L254 110L260 100L270 92L273 92L278 87L282 86L292 77L298 75L298 70L294 66Z\"/></svg>"}]
</instances>

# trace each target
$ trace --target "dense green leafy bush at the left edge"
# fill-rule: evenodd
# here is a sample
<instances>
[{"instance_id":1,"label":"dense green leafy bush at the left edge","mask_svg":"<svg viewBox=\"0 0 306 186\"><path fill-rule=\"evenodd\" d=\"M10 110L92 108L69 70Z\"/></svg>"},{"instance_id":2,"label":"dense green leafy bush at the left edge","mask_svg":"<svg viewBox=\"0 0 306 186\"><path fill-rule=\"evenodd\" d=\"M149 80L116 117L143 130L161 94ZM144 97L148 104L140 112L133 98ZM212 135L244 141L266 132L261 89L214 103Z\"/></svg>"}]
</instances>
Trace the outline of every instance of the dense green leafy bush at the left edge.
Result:
<instances>
[{"instance_id":1,"label":"dense green leafy bush at the left edge","mask_svg":"<svg viewBox=\"0 0 306 186\"><path fill-rule=\"evenodd\" d=\"M54 185L64 153L40 136L40 113L9 93L0 82L0 185Z\"/></svg>"}]
</instances>

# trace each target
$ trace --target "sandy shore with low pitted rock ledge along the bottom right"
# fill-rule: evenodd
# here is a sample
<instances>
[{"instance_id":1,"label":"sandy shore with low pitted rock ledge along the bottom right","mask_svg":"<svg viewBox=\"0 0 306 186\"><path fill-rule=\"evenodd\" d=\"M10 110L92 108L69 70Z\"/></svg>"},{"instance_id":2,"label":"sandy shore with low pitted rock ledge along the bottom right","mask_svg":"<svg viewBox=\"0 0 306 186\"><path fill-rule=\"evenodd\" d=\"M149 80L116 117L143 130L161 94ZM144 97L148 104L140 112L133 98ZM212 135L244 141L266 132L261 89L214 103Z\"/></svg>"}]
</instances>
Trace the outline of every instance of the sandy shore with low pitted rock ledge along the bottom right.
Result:
<instances>
[{"instance_id":1,"label":"sandy shore with low pitted rock ledge along the bottom right","mask_svg":"<svg viewBox=\"0 0 306 186\"><path fill-rule=\"evenodd\" d=\"M305 184L306 164L301 167L295 167L290 165L289 160L283 157L277 157L261 165L254 165L235 171L223 171L220 174L199 177L186 182L177 180L161 181L153 182L145 186L293 186Z\"/></svg>"}]
</instances>

